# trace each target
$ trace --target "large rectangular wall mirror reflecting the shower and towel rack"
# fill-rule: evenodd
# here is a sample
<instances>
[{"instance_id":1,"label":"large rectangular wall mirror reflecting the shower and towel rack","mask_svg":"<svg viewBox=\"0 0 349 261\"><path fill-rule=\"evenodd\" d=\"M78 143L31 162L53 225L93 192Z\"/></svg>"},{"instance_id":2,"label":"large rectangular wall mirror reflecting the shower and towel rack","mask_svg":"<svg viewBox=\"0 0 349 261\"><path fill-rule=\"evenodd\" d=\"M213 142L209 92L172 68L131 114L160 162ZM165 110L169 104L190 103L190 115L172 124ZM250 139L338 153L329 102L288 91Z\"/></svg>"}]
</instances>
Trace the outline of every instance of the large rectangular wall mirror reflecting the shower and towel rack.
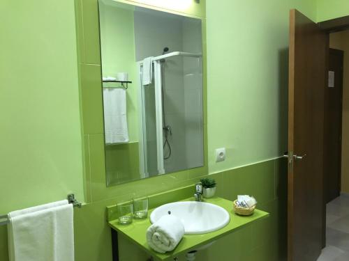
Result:
<instances>
[{"instance_id":1,"label":"large rectangular wall mirror reflecting the shower and towel rack","mask_svg":"<svg viewBox=\"0 0 349 261\"><path fill-rule=\"evenodd\" d=\"M99 1L107 185L204 165L201 20Z\"/></svg>"}]
</instances>

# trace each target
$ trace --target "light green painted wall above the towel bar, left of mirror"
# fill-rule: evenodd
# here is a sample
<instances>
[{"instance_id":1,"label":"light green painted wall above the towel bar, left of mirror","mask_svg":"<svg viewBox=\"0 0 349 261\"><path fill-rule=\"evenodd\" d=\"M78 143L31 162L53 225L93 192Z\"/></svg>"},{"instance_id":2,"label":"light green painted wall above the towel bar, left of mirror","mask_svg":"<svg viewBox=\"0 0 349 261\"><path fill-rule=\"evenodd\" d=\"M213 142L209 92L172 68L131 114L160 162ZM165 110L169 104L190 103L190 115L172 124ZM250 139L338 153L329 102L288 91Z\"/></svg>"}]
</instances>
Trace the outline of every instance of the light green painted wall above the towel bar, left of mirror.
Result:
<instances>
[{"instance_id":1,"label":"light green painted wall above the towel bar, left of mirror","mask_svg":"<svg viewBox=\"0 0 349 261\"><path fill-rule=\"evenodd\" d=\"M74 2L0 1L0 17L0 214L84 200Z\"/></svg>"}]
</instances>

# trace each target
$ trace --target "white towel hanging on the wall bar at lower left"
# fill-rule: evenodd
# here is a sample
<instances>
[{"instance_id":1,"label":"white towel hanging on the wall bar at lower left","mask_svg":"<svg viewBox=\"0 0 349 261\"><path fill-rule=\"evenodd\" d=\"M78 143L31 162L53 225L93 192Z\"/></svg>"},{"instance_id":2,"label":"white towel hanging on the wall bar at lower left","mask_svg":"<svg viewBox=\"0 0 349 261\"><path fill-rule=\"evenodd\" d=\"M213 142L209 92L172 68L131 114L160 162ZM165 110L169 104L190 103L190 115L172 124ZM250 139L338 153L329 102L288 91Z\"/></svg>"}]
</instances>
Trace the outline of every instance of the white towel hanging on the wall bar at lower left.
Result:
<instances>
[{"instance_id":1,"label":"white towel hanging on the wall bar at lower left","mask_svg":"<svg viewBox=\"0 0 349 261\"><path fill-rule=\"evenodd\" d=\"M73 205L63 201L10 212L10 261L73 261Z\"/></svg>"}]
</instances>

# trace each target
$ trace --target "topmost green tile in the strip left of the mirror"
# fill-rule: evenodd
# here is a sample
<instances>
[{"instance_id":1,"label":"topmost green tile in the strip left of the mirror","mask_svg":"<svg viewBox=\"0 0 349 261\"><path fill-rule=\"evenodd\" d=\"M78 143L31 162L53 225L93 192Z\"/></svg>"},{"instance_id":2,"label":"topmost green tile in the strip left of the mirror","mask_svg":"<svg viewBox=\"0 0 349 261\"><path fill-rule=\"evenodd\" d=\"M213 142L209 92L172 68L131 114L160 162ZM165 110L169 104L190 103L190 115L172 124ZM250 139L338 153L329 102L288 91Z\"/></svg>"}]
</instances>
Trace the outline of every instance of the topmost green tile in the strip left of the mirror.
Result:
<instances>
[{"instance_id":1,"label":"topmost green tile in the strip left of the mirror","mask_svg":"<svg viewBox=\"0 0 349 261\"><path fill-rule=\"evenodd\" d=\"M82 0L82 21L84 39L82 63L101 65L98 0Z\"/></svg>"}]
</instances>

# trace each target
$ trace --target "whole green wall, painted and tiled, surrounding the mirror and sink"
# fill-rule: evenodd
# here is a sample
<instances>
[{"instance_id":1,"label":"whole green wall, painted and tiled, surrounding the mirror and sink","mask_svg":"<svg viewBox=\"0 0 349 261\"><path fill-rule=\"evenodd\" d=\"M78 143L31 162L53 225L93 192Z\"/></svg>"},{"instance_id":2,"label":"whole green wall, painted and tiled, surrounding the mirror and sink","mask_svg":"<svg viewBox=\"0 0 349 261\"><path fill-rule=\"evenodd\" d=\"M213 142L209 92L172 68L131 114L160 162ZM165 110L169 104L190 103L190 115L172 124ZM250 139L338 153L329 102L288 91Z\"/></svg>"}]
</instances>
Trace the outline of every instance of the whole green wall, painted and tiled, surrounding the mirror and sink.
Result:
<instances>
[{"instance_id":1,"label":"whole green wall, painted and tiled, surrounding the mirror and sink","mask_svg":"<svg viewBox=\"0 0 349 261\"><path fill-rule=\"evenodd\" d=\"M97 1L74 3L78 59L73 1L0 3L0 31L6 35L0 60L0 198L5 199L0 214L60 200L73 191L88 202L75 209L76 260L111 260L106 205L193 184L207 170L105 188L102 107L95 99L101 96ZM203 3L188 15L200 17ZM198 255L202 260L283 260L285 166L279 160L252 163L284 150L288 10L299 8L315 20L316 6L300 0L219 3L207 0L209 173L217 172L219 196L251 193L272 216ZM318 17L326 17L325 12L320 16L320 6ZM221 146L228 148L227 160L216 164L214 148ZM252 165L236 168L244 164ZM6 237L6 227L0 226L0 260L5 261ZM251 243L251 251L244 253L244 242ZM122 260L144 260L144 253L125 240L120 251Z\"/></svg>"}]
</instances>

